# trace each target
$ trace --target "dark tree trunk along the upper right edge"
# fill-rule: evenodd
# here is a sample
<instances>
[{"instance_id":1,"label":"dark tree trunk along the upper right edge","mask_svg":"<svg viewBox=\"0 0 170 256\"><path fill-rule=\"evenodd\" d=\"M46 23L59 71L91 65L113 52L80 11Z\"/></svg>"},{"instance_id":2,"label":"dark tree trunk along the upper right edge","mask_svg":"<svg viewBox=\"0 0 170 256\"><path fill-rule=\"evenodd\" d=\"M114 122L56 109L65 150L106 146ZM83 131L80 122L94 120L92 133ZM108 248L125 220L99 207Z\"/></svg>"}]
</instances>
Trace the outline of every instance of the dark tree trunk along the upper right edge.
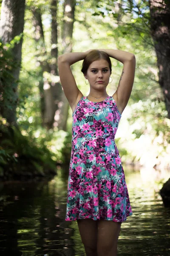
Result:
<instances>
[{"instance_id":1,"label":"dark tree trunk along the upper right edge","mask_svg":"<svg viewBox=\"0 0 170 256\"><path fill-rule=\"evenodd\" d=\"M154 41L159 84L170 119L170 7L163 0L149 0L150 31Z\"/></svg>"}]
</instances>

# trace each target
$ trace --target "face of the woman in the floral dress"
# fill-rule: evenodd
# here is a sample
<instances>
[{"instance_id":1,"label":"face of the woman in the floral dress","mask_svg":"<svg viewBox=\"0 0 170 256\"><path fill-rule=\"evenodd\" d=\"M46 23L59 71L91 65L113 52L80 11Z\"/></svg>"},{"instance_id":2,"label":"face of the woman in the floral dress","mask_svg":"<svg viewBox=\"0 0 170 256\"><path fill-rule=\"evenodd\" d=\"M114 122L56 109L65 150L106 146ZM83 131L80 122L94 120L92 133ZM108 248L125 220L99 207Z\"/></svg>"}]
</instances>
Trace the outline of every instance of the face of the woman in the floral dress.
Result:
<instances>
[{"instance_id":1,"label":"face of the woman in the floral dress","mask_svg":"<svg viewBox=\"0 0 170 256\"><path fill-rule=\"evenodd\" d=\"M111 76L110 68L108 61L104 59L99 59L97 61L93 61L87 70L87 75L85 78L88 79L89 84L94 89L104 89L108 83L109 78ZM99 81L103 81L99 83Z\"/></svg>"}]
</instances>

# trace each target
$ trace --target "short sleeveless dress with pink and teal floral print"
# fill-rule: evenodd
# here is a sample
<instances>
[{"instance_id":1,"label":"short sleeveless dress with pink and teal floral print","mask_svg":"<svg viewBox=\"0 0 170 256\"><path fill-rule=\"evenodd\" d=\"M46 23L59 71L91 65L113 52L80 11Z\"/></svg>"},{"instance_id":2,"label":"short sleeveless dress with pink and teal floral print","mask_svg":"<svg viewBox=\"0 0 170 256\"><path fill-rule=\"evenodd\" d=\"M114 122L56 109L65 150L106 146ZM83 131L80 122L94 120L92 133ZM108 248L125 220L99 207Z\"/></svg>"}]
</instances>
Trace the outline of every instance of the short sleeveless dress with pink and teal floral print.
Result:
<instances>
[{"instance_id":1,"label":"short sleeveless dress with pink and teal floral print","mask_svg":"<svg viewBox=\"0 0 170 256\"><path fill-rule=\"evenodd\" d=\"M121 114L112 96L91 102L83 96L73 112L65 221L126 221L130 199L114 138Z\"/></svg>"}]
</instances>

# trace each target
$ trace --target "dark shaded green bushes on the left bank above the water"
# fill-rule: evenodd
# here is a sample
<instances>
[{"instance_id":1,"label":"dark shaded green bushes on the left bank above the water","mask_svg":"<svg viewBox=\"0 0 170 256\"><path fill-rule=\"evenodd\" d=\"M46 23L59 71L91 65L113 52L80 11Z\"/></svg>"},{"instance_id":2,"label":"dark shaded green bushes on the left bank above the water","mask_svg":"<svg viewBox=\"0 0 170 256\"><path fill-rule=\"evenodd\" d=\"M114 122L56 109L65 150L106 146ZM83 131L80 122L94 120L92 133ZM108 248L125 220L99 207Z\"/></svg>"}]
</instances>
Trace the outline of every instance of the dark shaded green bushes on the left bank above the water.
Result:
<instances>
[{"instance_id":1,"label":"dark shaded green bushes on the left bank above the water","mask_svg":"<svg viewBox=\"0 0 170 256\"><path fill-rule=\"evenodd\" d=\"M23 136L15 126L9 127L0 119L0 177L46 177L56 174L56 161L45 145L38 148L31 138ZM2 140L3 137L3 140Z\"/></svg>"}]
</instances>

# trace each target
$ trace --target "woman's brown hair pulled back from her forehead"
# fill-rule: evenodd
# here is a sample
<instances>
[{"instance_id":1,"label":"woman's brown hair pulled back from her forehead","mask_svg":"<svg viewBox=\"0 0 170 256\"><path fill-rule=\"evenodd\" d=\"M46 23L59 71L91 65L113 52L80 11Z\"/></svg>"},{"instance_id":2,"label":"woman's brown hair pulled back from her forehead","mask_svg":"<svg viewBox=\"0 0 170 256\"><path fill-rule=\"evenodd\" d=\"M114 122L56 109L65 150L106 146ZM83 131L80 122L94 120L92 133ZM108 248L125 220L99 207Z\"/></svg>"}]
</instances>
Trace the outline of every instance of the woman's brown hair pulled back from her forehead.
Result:
<instances>
[{"instance_id":1,"label":"woman's brown hair pulled back from her forehead","mask_svg":"<svg viewBox=\"0 0 170 256\"><path fill-rule=\"evenodd\" d=\"M109 58L109 55L104 51L92 50L92 51L88 52L88 54L86 55L86 57L82 63L82 69L81 69L82 73L84 75L86 75L90 64L93 61L98 61L99 59L104 59L104 60L108 61L110 71L112 71L111 59Z\"/></svg>"}]
</instances>

